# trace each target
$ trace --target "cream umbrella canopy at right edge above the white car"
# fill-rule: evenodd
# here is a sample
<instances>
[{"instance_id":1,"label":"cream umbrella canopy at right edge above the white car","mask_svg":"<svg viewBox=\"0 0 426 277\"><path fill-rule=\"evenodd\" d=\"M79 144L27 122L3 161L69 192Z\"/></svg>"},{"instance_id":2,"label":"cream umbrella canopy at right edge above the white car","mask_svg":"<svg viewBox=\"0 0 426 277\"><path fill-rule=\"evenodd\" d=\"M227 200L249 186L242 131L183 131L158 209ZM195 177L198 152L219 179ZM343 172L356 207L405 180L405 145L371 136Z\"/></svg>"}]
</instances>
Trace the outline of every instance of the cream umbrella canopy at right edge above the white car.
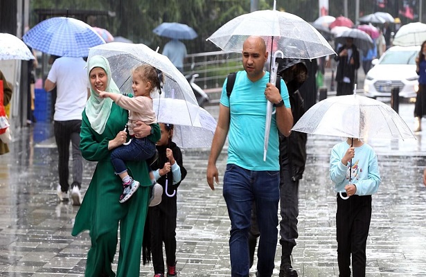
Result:
<instances>
[{"instance_id":1,"label":"cream umbrella canopy at right edge above the white car","mask_svg":"<svg viewBox=\"0 0 426 277\"><path fill-rule=\"evenodd\" d=\"M416 46L426 40L426 24L415 22L401 26L393 37L393 45Z\"/></svg>"}]
</instances>

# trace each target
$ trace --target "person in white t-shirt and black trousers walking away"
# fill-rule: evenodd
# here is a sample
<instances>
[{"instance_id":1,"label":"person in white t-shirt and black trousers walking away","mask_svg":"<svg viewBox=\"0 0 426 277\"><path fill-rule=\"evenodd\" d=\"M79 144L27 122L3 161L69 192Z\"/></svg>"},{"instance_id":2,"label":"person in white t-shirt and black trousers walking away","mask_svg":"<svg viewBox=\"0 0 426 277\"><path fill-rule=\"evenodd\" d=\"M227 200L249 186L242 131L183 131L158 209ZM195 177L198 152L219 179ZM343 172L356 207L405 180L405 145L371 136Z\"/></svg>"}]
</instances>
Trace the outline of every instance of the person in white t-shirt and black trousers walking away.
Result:
<instances>
[{"instance_id":1,"label":"person in white t-shirt and black trousers walking away","mask_svg":"<svg viewBox=\"0 0 426 277\"><path fill-rule=\"evenodd\" d=\"M82 111L88 96L86 62L82 57L60 57L53 62L44 89L57 88L55 100L54 132L59 154L57 170L59 185L57 195L61 202L69 200L69 145L72 144L73 183L71 197L73 205L81 204L82 154L80 151L80 128Z\"/></svg>"}]
</instances>

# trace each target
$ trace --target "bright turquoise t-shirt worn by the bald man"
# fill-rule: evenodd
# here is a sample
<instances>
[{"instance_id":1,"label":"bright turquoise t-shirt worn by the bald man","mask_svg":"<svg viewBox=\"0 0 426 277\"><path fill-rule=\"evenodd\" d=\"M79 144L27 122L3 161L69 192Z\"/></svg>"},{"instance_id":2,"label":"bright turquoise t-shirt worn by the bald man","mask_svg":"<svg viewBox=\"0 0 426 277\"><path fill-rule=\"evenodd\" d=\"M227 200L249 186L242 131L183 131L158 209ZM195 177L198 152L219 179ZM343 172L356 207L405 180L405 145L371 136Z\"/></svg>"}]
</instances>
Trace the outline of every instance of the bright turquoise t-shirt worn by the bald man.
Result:
<instances>
[{"instance_id":1,"label":"bright turquoise t-shirt worn by the bald man","mask_svg":"<svg viewBox=\"0 0 426 277\"><path fill-rule=\"evenodd\" d=\"M238 71L231 96L227 96L227 81L222 87L220 104L229 107L228 161L247 170L279 170L279 141L275 113L272 114L271 130L266 161L263 161L267 99L266 84L269 72L257 82L251 82L245 71ZM290 108L287 87L281 80L281 97ZM274 108L275 109L275 108Z\"/></svg>"}]
</instances>

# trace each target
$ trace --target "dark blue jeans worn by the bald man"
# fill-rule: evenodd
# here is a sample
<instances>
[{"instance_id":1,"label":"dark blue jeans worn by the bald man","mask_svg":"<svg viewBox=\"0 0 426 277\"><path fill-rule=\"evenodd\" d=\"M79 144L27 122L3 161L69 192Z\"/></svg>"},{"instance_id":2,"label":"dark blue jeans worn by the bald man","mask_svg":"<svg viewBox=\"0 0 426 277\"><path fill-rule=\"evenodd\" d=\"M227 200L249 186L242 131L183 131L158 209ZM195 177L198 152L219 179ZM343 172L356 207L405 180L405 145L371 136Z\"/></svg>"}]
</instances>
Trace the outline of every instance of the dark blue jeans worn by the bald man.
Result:
<instances>
[{"instance_id":1,"label":"dark blue jeans worn by the bald man","mask_svg":"<svg viewBox=\"0 0 426 277\"><path fill-rule=\"evenodd\" d=\"M278 201L280 173L252 171L234 164L227 165L223 196L231 220L229 251L231 276L249 276L249 229L251 208L256 204L260 232L258 276L272 276L278 240Z\"/></svg>"}]
</instances>

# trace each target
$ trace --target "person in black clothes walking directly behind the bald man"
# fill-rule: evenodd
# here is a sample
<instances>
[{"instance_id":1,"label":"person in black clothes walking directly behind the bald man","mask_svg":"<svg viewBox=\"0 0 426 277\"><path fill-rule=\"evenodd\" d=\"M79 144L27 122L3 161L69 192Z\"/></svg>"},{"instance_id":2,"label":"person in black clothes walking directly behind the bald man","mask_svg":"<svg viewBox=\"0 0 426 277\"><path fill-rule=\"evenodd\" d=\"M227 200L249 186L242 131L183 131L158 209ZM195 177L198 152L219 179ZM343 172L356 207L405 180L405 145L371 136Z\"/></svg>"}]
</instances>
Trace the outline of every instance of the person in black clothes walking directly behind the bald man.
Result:
<instances>
[{"instance_id":1,"label":"person in black clothes walking directly behind the bald man","mask_svg":"<svg viewBox=\"0 0 426 277\"><path fill-rule=\"evenodd\" d=\"M277 58L278 75L283 78L287 85L292 106L293 125L305 114L303 98L299 88L307 80L308 68L301 60ZM314 61L316 62L316 61ZM310 75L315 79L315 75ZM316 95L315 86L309 86L312 96ZM287 138L279 134L280 139L280 244L281 244L281 266L280 277L296 277L297 271L292 269L291 255L296 245L297 217L299 215L299 180L305 170L306 161L306 139L307 135L301 132L290 133ZM249 231L249 253L250 266L254 262L254 252L257 238L259 237L256 222L256 208L251 213L251 228Z\"/></svg>"}]
</instances>

